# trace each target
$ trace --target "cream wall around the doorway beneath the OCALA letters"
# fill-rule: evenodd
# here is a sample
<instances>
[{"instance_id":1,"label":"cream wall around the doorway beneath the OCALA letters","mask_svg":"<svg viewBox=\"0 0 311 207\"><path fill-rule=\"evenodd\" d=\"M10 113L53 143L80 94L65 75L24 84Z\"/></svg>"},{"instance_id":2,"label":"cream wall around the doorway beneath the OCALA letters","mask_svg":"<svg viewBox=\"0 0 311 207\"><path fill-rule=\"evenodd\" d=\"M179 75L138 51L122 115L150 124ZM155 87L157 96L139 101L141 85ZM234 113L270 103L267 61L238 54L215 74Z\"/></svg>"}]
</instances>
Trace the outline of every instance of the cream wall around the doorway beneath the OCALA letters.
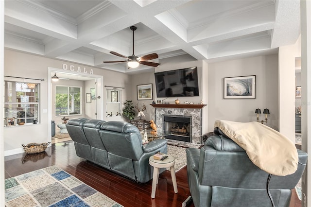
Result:
<instances>
[{"instance_id":1,"label":"cream wall around the doorway beneath the OCALA letters","mask_svg":"<svg viewBox=\"0 0 311 207\"><path fill-rule=\"evenodd\" d=\"M131 95L129 75L106 69L97 69L89 66L77 65L61 60L45 58L41 56L31 55L12 50L4 51L4 75L17 76L25 78L45 79L39 81L40 89L40 117L39 124L31 124L24 126L4 127L4 155L14 155L22 153L22 144L31 142L48 142L51 137L48 135L48 129L51 129L51 123L48 121L48 67L62 69L63 64L73 65L75 69L85 67L86 70L93 70L94 75L102 75L104 77L104 85L125 87L122 92L123 100L128 99ZM76 71L76 70L75 70ZM22 80L22 79L17 79ZM103 86L105 89L105 87ZM105 105L105 102L104 102ZM104 111L104 110L103 110ZM104 117L104 115L103 115ZM3 127L2 127L3 128Z\"/></svg>"}]
</instances>

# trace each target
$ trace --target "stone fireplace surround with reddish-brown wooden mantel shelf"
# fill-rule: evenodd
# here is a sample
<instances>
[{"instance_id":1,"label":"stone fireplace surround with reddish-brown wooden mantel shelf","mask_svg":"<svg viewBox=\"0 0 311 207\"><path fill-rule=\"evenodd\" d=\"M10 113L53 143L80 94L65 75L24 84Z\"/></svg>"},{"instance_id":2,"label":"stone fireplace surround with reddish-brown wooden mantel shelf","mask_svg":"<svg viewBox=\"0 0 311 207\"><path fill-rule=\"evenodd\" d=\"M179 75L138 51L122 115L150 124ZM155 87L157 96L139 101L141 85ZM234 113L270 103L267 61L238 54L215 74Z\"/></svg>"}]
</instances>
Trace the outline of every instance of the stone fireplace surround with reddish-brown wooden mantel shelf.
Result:
<instances>
[{"instance_id":1,"label":"stone fireplace surround with reddish-brown wooden mantel shelf","mask_svg":"<svg viewBox=\"0 0 311 207\"><path fill-rule=\"evenodd\" d=\"M151 104L155 107L155 124L163 131L163 115L191 116L192 143L202 144L202 108L206 104Z\"/></svg>"}]
</instances>

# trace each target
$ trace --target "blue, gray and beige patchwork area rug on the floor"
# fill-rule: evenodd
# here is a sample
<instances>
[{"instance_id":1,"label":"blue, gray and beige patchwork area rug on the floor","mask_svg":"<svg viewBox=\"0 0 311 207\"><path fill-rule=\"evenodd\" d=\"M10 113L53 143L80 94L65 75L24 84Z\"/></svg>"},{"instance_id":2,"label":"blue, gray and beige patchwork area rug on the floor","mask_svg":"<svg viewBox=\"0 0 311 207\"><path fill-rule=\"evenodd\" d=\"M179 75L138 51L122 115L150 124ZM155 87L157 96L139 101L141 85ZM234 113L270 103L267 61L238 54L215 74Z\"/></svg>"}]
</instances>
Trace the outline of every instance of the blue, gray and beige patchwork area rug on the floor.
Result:
<instances>
[{"instance_id":1,"label":"blue, gray and beige patchwork area rug on the floor","mask_svg":"<svg viewBox=\"0 0 311 207\"><path fill-rule=\"evenodd\" d=\"M5 206L122 207L56 166L6 179Z\"/></svg>"}]
</instances>

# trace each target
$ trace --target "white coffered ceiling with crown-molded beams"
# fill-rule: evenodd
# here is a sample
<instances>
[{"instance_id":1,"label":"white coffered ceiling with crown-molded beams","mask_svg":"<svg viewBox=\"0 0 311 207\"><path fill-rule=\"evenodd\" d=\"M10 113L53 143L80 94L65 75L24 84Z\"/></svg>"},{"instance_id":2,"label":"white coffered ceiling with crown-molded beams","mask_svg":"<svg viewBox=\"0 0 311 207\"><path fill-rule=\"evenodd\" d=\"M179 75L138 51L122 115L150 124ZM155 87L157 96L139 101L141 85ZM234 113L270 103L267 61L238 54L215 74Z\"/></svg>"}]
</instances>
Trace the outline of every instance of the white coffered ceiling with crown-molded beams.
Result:
<instances>
[{"instance_id":1,"label":"white coffered ceiling with crown-molded beams","mask_svg":"<svg viewBox=\"0 0 311 207\"><path fill-rule=\"evenodd\" d=\"M209 62L276 53L300 35L299 0L5 0L4 45L133 73L110 54L182 54ZM161 67L161 65L159 66Z\"/></svg>"}]
</instances>

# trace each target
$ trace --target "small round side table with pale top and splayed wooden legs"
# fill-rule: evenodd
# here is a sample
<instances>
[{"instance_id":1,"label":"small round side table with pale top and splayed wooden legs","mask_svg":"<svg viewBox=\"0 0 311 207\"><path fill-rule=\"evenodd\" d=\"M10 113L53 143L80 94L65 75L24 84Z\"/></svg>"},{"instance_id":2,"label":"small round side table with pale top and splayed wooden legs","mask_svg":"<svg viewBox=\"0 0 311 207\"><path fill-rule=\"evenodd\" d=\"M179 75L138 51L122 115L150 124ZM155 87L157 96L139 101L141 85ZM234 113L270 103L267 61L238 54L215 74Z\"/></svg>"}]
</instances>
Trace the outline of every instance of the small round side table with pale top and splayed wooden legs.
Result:
<instances>
[{"instance_id":1,"label":"small round side table with pale top and splayed wooden legs","mask_svg":"<svg viewBox=\"0 0 311 207\"><path fill-rule=\"evenodd\" d=\"M175 158L172 155L168 155L168 157L164 160L157 160L157 159L154 159L154 155L152 155L149 157L149 164L154 167L151 198L155 198L156 185L157 185L158 179L159 179L159 168L170 167L174 192L178 193L175 168L174 168Z\"/></svg>"}]
</instances>

